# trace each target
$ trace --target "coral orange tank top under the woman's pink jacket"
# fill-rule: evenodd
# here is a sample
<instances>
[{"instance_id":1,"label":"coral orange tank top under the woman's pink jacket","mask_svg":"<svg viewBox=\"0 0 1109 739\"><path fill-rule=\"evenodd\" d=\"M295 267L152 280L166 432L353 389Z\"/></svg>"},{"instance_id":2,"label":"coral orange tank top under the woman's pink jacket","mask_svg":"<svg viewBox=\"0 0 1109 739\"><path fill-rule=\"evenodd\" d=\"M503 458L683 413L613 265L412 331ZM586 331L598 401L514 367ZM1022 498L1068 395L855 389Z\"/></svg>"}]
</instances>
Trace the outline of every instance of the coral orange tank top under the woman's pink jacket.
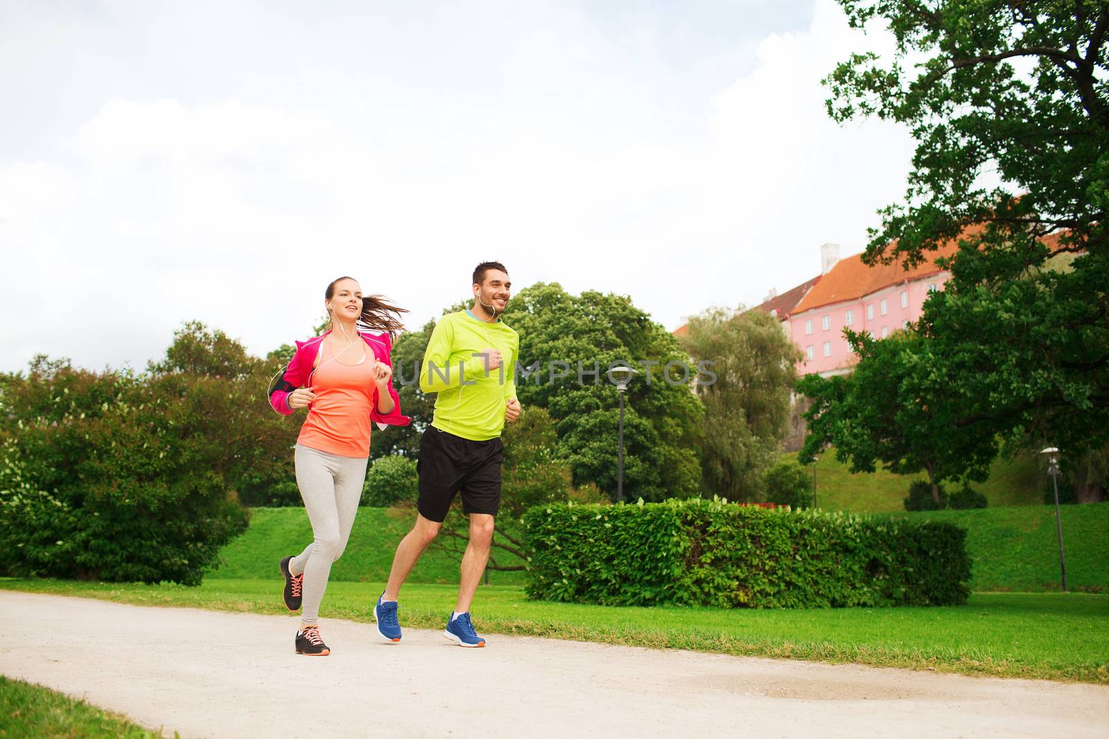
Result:
<instances>
[{"instance_id":1,"label":"coral orange tank top under the woman's pink jacket","mask_svg":"<svg viewBox=\"0 0 1109 739\"><path fill-rule=\"evenodd\" d=\"M369 456L369 412L374 404L374 365L377 359L364 341L333 356L321 342L319 363L309 389L316 399L301 427L297 443L339 456ZM362 353L362 360L352 362ZM344 363L349 362L349 363Z\"/></svg>"}]
</instances>

